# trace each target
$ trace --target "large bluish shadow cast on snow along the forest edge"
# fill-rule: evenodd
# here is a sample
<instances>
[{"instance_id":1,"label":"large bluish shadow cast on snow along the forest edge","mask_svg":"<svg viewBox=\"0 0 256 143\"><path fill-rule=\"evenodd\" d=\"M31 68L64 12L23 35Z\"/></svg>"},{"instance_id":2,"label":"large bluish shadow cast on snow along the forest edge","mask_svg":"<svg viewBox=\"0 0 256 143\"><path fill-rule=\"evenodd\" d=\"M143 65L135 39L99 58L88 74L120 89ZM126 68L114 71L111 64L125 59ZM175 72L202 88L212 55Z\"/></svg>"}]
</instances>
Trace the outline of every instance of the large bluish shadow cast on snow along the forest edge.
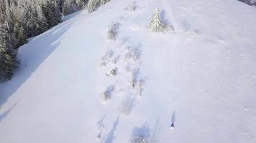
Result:
<instances>
[{"instance_id":1,"label":"large bluish shadow cast on snow along the forest edge","mask_svg":"<svg viewBox=\"0 0 256 143\"><path fill-rule=\"evenodd\" d=\"M32 75L38 66L52 54L61 42L62 35L74 23L74 20L64 21L32 38L29 43L19 48L19 57L21 63L14 77L11 80L0 84L0 109L1 105L7 102L8 98L14 94L19 87Z\"/></svg>"}]
</instances>

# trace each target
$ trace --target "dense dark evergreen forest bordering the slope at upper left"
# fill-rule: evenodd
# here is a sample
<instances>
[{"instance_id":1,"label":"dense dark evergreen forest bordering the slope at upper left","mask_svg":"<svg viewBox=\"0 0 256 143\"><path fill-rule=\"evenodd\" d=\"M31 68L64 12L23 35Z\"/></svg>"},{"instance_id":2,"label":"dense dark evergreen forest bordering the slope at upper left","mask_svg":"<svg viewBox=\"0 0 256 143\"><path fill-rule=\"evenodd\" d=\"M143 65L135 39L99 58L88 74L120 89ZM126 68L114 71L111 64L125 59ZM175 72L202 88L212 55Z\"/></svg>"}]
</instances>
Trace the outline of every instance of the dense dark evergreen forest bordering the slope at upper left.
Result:
<instances>
[{"instance_id":1,"label":"dense dark evergreen forest bordering the slope at upper left","mask_svg":"<svg viewBox=\"0 0 256 143\"><path fill-rule=\"evenodd\" d=\"M19 66L17 49L27 38L61 22L63 15L83 8L88 0L0 0L0 82Z\"/></svg>"}]
</instances>

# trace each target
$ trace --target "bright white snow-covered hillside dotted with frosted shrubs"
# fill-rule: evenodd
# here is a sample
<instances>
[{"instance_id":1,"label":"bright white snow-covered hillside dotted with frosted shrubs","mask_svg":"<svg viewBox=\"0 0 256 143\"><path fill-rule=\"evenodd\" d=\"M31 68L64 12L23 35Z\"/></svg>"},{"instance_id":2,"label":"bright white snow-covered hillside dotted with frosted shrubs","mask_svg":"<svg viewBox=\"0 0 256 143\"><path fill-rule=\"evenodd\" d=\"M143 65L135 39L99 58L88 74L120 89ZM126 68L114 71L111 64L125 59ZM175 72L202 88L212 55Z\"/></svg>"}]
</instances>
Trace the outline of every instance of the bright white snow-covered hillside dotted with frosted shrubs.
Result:
<instances>
[{"instance_id":1,"label":"bright white snow-covered hillside dotted with frosted shrubs","mask_svg":"<svg viewBox=\"0 0 256 143\"><path fill-rule=\"evenodd\" d=\"M132 2L79 11L21 47L19 71L0 85L1 143L256 142L255 7L137 0L127 11ZM155 8L175 31L147 30Z\"/></svg>"}]
</instances>

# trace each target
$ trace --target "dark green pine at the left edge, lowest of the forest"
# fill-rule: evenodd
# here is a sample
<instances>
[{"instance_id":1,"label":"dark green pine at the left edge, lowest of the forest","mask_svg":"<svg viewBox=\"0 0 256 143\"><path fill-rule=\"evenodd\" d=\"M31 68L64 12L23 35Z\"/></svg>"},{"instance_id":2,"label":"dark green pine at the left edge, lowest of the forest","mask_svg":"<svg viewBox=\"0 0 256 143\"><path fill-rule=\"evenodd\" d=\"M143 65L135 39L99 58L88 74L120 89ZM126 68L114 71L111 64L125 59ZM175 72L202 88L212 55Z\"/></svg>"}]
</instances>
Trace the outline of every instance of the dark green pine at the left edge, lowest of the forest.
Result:
<instances>
[{"instance_id":1,"label":"dark green pine at the left edge, lowest of the forest","mask_svg":"<svg viewBox=\"0 0 256 143\"><path fill-rule=\"evenodd\" d=\"M17 51L12 49L9 39L6 23L0 24L0 82L11 79L19 63Z\"/></svg>"}]
</instances>

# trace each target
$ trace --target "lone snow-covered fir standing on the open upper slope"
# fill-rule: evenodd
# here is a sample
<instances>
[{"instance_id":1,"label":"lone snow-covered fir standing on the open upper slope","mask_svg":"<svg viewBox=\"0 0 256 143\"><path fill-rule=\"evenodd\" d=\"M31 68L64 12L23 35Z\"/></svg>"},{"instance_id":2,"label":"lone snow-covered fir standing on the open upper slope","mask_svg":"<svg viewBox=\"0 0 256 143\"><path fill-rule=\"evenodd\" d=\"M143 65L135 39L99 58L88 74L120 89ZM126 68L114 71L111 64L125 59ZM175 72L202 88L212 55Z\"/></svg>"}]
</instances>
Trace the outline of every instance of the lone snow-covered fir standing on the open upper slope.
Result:
<instances>
[{"instance_id":1,"label":"lone snow-covered fir standing on the open upper slope","mask_svg":"<svg viewBox=\"0 0 256 143\"><path fill-rule=\"evenodd\" d=\"M163 31L160 9L155 9L155 13L153 14L150 21L150 30L155 32Z\"/></svg>"}]
</instances>

